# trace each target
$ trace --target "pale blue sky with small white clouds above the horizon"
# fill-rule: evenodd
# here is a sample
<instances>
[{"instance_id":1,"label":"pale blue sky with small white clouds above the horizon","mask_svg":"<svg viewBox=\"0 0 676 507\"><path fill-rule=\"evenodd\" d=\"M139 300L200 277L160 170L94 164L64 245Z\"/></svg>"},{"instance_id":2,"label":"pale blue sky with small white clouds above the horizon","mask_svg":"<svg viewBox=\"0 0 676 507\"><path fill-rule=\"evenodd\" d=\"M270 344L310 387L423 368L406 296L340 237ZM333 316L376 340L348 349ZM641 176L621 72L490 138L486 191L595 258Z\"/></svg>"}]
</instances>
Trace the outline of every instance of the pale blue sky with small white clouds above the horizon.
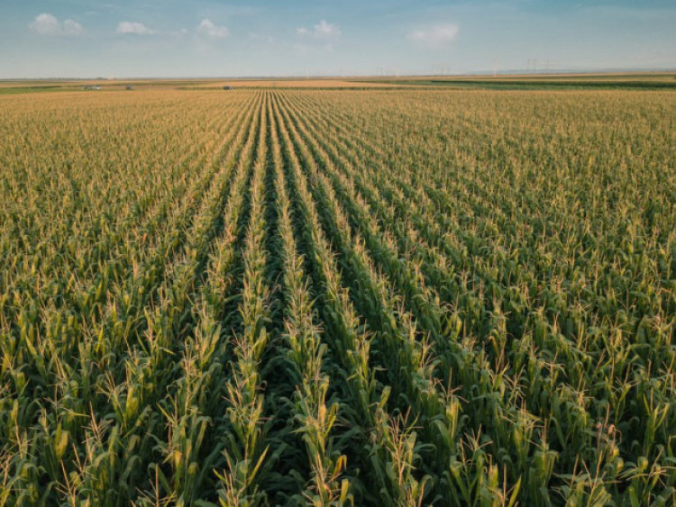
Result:
<instances>
[{"instance_id":1,"label":"pale blue sky with small white clouds above the horizon","mask_svg":"<svg viewBox=\"0 0 676 507\"><path fill-rule=\"evenodd\" d=\"M0 78L528 65L676 68L676 0L0 0Z\"/></svg>"}]
</instances>

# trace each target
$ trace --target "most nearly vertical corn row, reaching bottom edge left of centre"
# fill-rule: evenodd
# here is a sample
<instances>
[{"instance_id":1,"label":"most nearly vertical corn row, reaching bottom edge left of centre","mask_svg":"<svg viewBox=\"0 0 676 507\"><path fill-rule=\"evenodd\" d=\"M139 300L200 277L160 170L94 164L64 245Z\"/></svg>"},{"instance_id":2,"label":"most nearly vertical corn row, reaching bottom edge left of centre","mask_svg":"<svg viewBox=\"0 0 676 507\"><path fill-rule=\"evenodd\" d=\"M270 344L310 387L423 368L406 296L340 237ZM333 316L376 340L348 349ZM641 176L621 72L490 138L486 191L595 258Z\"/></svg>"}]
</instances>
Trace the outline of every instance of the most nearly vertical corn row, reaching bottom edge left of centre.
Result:
<instances>
[{"instance_id":1,"label":"most nearly vertical corn row, reaching bottom edge left of centre","mask_svg":"<svg viewBox=\"0 0 676 507\"><path fill-rule=\"evenodd\" d=\"M267 100L267 97L266 99ZM260 361L269 345L270 284L266 279L265 174L269 165L267 106L260 111L260 136L251 178L251 219L243 246L241 325L234 343L232 375L226 385L228 438L226 466L219 474L219 502L224 507L256 506L267 502L269 475L282 446L268 439L272 419L266 418Z\"/></svg>"}]
</instances>

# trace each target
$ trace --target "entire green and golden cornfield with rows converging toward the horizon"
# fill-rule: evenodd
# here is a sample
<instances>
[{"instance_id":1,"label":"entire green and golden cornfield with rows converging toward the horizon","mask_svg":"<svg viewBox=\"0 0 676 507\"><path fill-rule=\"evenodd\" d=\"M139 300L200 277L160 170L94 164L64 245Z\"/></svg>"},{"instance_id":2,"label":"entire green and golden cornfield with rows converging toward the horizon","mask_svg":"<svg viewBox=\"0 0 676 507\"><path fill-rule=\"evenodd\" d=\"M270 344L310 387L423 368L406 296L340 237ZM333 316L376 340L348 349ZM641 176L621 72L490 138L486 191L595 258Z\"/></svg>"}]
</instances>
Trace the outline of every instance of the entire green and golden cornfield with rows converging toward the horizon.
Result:
<instances>
[{"instance_id":1,"label":"entire green and golden cornfield with rows converging toward the horizon","mask_svg":"<svg viewBox=\"0 0 676 507\"><path fill-rule=\"evenodd\" d=\"M676 502L673 92L45 92L0 140L0 507Z\"/></svg>"}]
</instances>

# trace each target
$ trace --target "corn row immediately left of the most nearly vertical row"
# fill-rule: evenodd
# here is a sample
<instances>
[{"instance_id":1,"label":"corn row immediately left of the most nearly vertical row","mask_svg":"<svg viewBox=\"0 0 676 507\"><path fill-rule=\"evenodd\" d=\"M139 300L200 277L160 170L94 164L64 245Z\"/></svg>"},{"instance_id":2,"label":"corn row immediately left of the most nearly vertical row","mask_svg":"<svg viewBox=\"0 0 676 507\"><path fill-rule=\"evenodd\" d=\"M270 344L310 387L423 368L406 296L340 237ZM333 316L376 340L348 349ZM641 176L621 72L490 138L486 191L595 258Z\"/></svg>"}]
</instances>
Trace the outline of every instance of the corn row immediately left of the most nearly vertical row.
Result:
<instances>
[{"instance_id":1,"label":"corn row immediately left of the most nearly vertical row","mask_svg":"<svg viewBox=\"0 0 676 507\"><path fill-rule=\"evenodd\" d=\"M229 182L225 205L212 208L206 220L197 225L198 240L190 250L189 263L182 267L187 269L186 275L170 276L174 282L181 278L185 281L172 287L175 297L167 305L169 313L154 320L160 322L161 333L169 335L168 360L158 367L173 375L167 382L168 395L159 406L168 429L160 434L155 447L161 460L149 467L161 488L140 503L161 500L191 505L215 498L214 469L224 461L223 445L206 443L215 438L215 423L224 417L222 398L226 393L229 347L226 326L232 321L232 310L228 312L232 305L228 301L233 298L238 268L234 249L241 234L244 195L260 135L261 110L258 101L252 112L255 118L247 131L242 131L242 150L230 158L236 172ZM177 365L174 358L179 354Z\"/></svg>"}]
</instances>

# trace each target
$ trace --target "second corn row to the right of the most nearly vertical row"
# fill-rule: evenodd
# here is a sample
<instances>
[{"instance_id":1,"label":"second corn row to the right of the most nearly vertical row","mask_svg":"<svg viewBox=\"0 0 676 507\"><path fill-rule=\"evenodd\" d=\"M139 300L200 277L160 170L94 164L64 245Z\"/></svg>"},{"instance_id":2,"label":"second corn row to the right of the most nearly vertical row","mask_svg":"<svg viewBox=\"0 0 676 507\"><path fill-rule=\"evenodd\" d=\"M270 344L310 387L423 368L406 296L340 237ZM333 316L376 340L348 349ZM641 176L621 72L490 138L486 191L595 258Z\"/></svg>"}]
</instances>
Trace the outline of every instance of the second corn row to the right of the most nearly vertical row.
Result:
<instances>
[{"instance_id":1,"label":"second corn row to the right of the most nearly vertical row","mask_svg":"<svg viewBox=\"0 0 676 507\"><path fill-rule=\"evenodd\" d=\"M312 165L314 159L309 157L306 146L298 139L288 113L282 109L279 111L285 121L283 135L288 164L294 169L290 172L290 179L297 190L297 204L305 215L306 244L310 249L308 256L315 260L313 267L318 285L322 286L324 321L330 327L333 336L330 343L345 372L348 392L344 398L357 403L356 407L343 405L343 412L355 430L352 438L361 435L361 460L372 477L369 480L379 484L379 496L375 499L370 496L372 492L360 493L377 504L420 505L428 493L425 484L429 477L420 477L416 472L420 459L416 421L411 421L407 413L390 415L387 410L391 389L381 385L377 369L370 365L374 339L368 331L364 334L365 323L361 323L350 293L342 285L337 261L324 236L315 207L315 196L308 188L302 171L302 167Z\"/></svg>"}]
</instances>

